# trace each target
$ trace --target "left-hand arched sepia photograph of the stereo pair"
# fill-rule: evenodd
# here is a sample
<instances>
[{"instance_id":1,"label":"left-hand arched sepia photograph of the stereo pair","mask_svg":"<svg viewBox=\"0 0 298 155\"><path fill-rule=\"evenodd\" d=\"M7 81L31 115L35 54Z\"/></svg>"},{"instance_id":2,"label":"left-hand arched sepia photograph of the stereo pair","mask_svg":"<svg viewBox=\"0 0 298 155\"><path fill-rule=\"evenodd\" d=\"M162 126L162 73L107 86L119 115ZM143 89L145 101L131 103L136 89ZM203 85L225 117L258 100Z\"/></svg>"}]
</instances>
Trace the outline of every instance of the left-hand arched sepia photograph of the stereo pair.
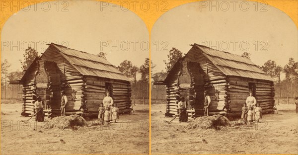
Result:
<instances>
[{"instance_id":1,"label":"left-hand arched sepia photograph of the stereo pair","mask_svg":"<svg viewBox=\"0 0 298 155\"><path fill-rule=\"evenodd\" d=\"M117 7L46 1L5 22L1 155L149 154L149 33Z\"/></svg>"}]
</instances>

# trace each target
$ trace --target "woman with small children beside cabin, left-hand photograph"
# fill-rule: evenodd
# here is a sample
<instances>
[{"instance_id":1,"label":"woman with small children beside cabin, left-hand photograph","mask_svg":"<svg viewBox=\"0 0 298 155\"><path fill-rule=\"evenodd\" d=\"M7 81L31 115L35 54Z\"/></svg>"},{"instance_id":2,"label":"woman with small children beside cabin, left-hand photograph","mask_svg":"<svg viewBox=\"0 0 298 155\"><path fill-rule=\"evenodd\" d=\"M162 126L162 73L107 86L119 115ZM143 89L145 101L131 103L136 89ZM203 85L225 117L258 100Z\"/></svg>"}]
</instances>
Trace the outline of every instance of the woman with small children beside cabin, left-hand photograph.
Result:
<instances>
[{"instance_id":1,"label":"woman with small children beside cabin, left-hand photograph","mask_svg":"<svg viewBox=\"0 0 298 155\"><path fill-rule=\"evenodd\" d=\"M100 121L113 121L116 123L117 119L119 119L119 108L117 107L117 104L114 104L113 98L110 96L109 92L103 98L102 103L100 103L98 112L98 119Z\"/></svg>"}]
</instances>

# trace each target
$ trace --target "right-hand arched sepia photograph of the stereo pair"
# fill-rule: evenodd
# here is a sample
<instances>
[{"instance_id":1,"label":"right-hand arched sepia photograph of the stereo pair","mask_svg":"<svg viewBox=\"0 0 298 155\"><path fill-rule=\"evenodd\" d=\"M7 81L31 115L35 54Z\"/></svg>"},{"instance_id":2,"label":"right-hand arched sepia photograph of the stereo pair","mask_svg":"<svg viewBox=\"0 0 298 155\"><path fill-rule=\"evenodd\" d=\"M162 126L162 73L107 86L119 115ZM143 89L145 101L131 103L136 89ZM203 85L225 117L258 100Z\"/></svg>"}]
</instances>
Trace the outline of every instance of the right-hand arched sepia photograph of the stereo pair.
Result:
<instances>
[{"instance_id":1,"label":"right-hand arched sepia photograph of the stereo pair","mask_svg":"<svg viewBox=\"0 0 298 155\"><path fill-rule=\"evenodd\" d=\"M151 153L297 154L297 33L266 1L197 1L161 15Z\"/></svg>"}]
</instances>

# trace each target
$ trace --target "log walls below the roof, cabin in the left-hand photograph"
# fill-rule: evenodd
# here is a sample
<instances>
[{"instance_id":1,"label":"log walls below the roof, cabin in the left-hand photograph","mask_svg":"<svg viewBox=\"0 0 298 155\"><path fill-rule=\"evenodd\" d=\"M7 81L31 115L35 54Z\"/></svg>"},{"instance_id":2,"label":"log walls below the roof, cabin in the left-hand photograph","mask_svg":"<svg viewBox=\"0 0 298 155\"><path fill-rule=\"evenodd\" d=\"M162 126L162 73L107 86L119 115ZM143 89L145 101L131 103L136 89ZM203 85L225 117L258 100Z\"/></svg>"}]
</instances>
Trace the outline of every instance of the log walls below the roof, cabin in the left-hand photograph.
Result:
<instances>
[{"instance_id":1,"label":"log walls below the roof, cabin in the left-hand photograph","mask_svg":"<svg viewBox=\"0 0 298 155\"><path fill-rule=\"evenodd\" d=\"M44 110L46 115L59 116L61 90L65 90L68 98L66 115L80 114L81 109L84 113L97 115L99 104L107 91L106 82L112 85L111 96L118 105L119 112L130 112L131 85L129 81L82 76L56 49L50 46L38 62L32 64L26 72L23 81L22 115L34 114L36 96L41 95L44 103L51 103ZM45 98L45 95L51 98Z\"/></svg>"}]
</instances>

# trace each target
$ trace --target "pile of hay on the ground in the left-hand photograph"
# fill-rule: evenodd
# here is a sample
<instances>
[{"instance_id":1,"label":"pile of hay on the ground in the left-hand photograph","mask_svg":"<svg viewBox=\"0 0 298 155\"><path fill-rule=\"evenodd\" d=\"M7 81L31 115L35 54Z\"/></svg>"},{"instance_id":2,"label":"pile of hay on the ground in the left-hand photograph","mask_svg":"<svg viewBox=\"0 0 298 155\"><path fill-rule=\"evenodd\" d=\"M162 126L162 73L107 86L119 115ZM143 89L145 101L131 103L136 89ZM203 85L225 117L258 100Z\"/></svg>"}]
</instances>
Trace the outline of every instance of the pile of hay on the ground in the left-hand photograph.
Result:
<instances>
[{"instance_id":1,"label":"pile of hay on the ground in the left-hand photograph","mask_svg":"<svg viewBox=\"0 0 298 155\"><path fill-rule=\"evenodd\" d=\"M45 129L74 129L75 126L85 126L86 120L79 115L59 116L50 120Z\"/></svg>"}]
</instances>

